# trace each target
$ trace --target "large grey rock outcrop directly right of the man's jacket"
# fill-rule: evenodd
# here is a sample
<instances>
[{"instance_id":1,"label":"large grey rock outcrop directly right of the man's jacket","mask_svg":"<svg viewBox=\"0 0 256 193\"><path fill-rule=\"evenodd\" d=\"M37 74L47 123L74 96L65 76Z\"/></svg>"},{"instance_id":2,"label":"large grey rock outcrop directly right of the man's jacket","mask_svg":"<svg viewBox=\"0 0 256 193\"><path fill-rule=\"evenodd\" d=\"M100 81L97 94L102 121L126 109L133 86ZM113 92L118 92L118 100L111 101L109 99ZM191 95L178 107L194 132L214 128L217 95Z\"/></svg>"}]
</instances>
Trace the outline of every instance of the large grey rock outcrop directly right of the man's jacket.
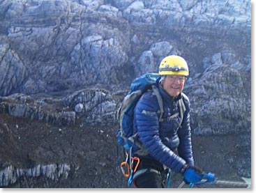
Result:
<instances>
[{"instance_id":1,"label":"large grey rock outcrop directly right of the man's jacket","mask_svg":"<svg viewBox=\"0 0 256 193\"><path fill-rule=\"evenodd\" d=\"M186 87L193 104L194 132L249 134L250 61L240 61L234 52L224 51L205 58L204 66L204 72Z\"/></svg>"}]
</instances>

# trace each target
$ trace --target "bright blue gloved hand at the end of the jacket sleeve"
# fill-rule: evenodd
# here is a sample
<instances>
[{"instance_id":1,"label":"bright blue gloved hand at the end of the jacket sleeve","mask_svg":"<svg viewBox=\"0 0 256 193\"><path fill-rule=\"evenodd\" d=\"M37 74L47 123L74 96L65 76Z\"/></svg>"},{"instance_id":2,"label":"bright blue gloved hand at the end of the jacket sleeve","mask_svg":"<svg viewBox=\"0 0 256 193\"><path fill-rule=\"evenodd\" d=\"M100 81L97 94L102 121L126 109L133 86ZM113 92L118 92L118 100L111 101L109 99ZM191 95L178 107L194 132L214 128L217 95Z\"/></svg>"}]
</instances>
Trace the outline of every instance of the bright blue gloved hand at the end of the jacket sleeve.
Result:
<instances>
[{"instance_id":1,"label":"bright blue gloved hand at the end of the jacket sleeve","mask_svg":"<svg viewBox=\"0 0 256 193\"><path fill-rule=\"evenodd\" d=\"M183 180L185 183L199 183L204 178L204 173L197 167L187 167L183 173Z\"/></svg>"}]
</instances>

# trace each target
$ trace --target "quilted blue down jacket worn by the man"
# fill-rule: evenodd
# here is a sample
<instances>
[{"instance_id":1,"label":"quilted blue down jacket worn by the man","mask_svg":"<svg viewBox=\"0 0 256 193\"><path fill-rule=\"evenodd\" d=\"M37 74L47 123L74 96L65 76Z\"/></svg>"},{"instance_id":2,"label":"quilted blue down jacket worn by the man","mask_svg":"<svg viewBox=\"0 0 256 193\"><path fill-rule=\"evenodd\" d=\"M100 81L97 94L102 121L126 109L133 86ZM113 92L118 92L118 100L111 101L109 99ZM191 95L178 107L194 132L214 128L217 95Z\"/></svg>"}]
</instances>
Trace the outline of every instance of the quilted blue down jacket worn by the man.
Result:
<instances>
[{"instance_id":1,"label":"quilted blue down jacket worn by the man","mask_svg":"<svg viewBox=\"0 0 256 193\"><path fill-rule=\"evenodd\" d=\"M163 122L158 121L159 105L153 90L142 95L134 110L134 130L138 139L149 153L149 157L158 160L177 173L181 173L185 164L194 165L190 134L190 102L185 94L172 98L158 83L156 85L163 98ZM183 123L180 116L168 117L179 112L178 100L183 97L186 111ZM178 151L177 155L174 153Z\"/></svg>"}]
</instances>

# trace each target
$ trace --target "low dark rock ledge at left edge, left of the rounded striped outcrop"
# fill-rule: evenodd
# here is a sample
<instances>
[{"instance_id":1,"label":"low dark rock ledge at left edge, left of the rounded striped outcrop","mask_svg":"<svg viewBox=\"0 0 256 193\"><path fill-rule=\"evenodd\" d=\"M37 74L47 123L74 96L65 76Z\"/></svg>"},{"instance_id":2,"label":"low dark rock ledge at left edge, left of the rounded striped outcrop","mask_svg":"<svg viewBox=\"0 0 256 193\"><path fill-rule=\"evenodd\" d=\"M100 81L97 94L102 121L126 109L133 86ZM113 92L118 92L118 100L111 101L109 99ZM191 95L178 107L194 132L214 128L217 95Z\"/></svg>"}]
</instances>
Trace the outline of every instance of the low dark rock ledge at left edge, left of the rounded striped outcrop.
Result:
<instances>
[{"instance_id":1,"label":"low dark rock ledge at left edge, left of the rounded striped outcrop","mask_svg":"<svg viewBox=\"0 0 256 193\"><path fill-rule=\"evenodd\" d=\"M75 111L63 111L66 107L61 107L56 100L50 100L36 101L27 95L10 95L0 98L0 113L57 125L74 125Z\"/></svg>"}]
</instances>

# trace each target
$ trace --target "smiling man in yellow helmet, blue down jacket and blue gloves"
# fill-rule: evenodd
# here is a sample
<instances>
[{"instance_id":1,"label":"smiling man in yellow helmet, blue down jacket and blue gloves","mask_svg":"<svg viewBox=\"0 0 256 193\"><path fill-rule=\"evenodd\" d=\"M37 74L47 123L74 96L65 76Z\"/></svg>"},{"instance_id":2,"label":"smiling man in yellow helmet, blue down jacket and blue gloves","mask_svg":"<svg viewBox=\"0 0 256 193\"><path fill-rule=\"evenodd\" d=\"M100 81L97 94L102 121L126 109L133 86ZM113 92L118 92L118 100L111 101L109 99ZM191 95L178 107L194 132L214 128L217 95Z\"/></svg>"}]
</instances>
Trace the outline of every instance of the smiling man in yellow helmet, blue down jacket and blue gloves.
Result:
<instances>
[{"instance_id":1,"label":"smiling man in yellow helmet, blue down jacket and blue gloves","mask_svg":"<svg viewBox=\"0 0 256 193\"><path fill-rule=\"evenodd\" d=\"M146 154L133 154L140 157L133 183L135 187L165 187L170 169L181 173L186 183L198 183L203 174L194 167L190 102L182 93L189 74L188 65L181 56L167 56L160 62L158 74L155 86L163 107L153 89L149 89L134 110L133 133L138 133L137 139Z\"/></svg>"}]
</instances>

